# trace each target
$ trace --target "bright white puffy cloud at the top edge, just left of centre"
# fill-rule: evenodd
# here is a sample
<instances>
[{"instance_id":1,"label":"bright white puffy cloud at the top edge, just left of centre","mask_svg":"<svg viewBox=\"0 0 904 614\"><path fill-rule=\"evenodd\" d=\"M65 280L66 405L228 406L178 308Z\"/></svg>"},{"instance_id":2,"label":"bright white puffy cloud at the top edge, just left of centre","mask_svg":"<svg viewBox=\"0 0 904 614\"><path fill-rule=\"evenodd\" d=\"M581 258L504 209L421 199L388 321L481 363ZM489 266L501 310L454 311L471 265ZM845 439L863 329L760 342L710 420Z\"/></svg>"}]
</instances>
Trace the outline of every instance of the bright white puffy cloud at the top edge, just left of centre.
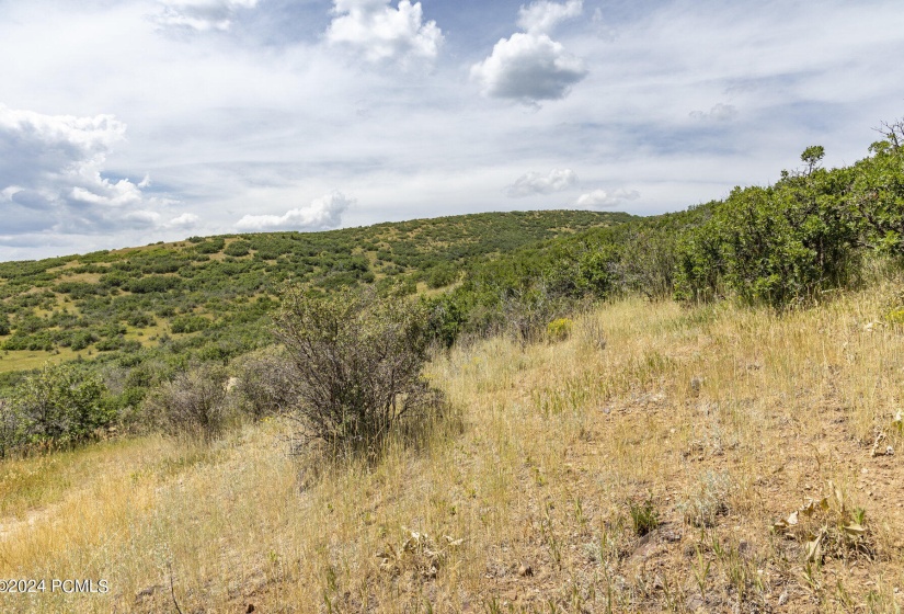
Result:
<instances>
[{"instance_id":1,"label":"bright white puffy cloud at the top edge, just left of centre","mask_svg":"<svg viewBox=\"0 0 904 614\"><path fill-rule=\"evenodd\" d=\"M420 2L400 0L397 9L386 0L335 0L327 41L361 53L367 60L436 58L443 32L435 21L424 23Z\"/></svg>"}]
</instances>

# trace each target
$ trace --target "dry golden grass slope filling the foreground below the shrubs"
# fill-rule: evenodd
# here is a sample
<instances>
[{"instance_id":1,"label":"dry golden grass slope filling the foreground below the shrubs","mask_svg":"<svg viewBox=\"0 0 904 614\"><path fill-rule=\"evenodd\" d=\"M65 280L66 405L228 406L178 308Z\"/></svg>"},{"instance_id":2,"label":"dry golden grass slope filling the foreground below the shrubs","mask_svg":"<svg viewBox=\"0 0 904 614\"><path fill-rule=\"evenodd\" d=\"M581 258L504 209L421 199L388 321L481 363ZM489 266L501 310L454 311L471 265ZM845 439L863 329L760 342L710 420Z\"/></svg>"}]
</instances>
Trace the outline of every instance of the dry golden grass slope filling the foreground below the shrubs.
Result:
<instances>
[{"instance_id":1,"label":"dry golden grass slope filling the foreground below the shrubs","mask_svg":"<svg viewBox=\"0 0 904 614\"><path fill-rule=\"evenodd\" d=\"M0 610L901 612L900 287L457 348L457 416L374 465L289 456L281 420L2 463L0 577L47 592Z\"/></svg>"}]
</instances>

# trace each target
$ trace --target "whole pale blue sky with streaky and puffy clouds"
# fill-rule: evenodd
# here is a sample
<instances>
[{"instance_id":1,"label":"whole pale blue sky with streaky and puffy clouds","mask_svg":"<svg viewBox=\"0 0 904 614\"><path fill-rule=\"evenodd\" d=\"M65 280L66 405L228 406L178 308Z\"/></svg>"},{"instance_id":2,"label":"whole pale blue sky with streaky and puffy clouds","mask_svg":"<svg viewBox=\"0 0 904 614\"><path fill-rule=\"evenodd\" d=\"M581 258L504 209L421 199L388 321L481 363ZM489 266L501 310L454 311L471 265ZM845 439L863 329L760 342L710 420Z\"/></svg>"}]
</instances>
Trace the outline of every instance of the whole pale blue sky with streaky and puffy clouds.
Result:
<instances>
[{"instance_id":1,"label":"whole pale blue sky with streaky and puffy clouds","mask_svg":"<svg viewBox=\"0 0 904 614\"><path fill-rule=\"evenodd\" d=\"M0 261L652 215L867 156L900 0L0 0Z\"/></svg>"}]
</instances>

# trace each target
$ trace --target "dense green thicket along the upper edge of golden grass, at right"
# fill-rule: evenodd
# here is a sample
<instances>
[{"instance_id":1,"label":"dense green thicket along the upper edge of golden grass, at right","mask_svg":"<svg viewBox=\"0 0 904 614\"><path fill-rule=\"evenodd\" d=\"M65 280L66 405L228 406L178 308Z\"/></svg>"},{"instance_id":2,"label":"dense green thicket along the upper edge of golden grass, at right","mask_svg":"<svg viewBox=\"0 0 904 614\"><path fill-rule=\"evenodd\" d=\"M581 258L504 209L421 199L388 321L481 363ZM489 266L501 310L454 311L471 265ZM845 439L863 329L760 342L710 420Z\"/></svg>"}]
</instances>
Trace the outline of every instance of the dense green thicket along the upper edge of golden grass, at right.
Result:
<instances>
[{"instance_id":1,"label":"dense green thicket along the upper edge of golden grass, at right","mask_svg":"<svg viewBox=\"0 0 904 614\"><path fill-rule=\"evenodd\" d=\"M850 167L804 167L724 201L636 218L526 246L472 270L439 302L447 342L507 329L536 337L587 298L642 294L687 302L734 298L779 310L861 283L867 264L904 264L902 126Z\"/></svg>"}]
</instances>

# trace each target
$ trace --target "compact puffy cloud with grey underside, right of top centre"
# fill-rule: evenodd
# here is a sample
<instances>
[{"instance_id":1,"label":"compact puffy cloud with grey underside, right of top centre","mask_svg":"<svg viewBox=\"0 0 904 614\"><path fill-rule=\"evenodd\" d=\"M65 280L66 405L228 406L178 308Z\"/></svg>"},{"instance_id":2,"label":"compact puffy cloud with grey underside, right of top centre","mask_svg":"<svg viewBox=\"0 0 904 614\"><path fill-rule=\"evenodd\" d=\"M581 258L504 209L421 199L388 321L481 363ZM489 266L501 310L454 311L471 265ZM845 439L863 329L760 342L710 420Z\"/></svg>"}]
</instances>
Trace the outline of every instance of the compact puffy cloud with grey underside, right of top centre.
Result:
<instances>
[{"instance_id":1,"label":"compact puffy cloud with grey underside, right of top centre","mask_svg":"<svg viewBox=\"0 0 904 614\"><path fill-rule=\"evenodd\" d=\"M587 76L584 62L546 34L516 32L502 38L493 53L471 67L485 95L536 103L564 98Z\"/></svg>"}]
</instances>

